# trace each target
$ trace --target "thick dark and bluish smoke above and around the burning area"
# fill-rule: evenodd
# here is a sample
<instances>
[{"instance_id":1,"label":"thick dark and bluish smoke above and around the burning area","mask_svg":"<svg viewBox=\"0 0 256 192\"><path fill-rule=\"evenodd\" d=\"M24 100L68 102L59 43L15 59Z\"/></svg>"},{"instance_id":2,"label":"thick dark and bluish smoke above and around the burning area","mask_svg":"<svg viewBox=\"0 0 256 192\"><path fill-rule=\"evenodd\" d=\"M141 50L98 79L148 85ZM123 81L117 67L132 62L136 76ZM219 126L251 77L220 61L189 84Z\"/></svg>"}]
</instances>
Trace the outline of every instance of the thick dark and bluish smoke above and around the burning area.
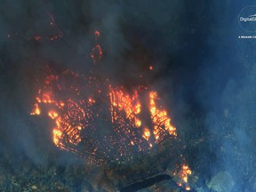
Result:
<instances>
[{"instance_id":1,"label":"thick dark and bluish smoke above and around the burning area","mask_svg":"<svg viewBox=\"0 0 256 192\"><path fill-rule=\"evenodd\" d=\"M44 76L46 65L56 72L69 68L86 73L92 68L90 52L97 29L103 58L94 68L127 89L138 85L142 74L143 84L161 92L172 123L188 146L188 163L194 170L202 164L196 170L204 178L202 185L217 172L227 171L236 188L245 188L255 179L250 170L255 168L256 115L255 44L237 39L244 34L237 16L246 5L3 0L0 150L21 151L35 164L47 163L42 151L51 146L51 132L44 129L49 124L38 119L36 127L29 116L36 80ZM51 36L58 38L51 41ZM206 140L204 147L194 146L200 139Z\"/></svg>"}]
</instances>

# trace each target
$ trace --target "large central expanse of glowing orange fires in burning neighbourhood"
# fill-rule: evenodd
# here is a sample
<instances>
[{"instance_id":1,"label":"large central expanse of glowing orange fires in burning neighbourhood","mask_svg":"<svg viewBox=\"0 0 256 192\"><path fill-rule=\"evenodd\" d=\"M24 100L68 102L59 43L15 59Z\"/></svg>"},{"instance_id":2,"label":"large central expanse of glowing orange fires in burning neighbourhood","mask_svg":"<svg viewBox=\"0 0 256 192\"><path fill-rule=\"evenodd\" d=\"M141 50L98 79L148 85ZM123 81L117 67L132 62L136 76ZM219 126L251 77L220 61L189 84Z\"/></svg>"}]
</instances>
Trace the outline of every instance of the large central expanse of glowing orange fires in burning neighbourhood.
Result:
<instances>
[{"instance_id":1,"label":"large central expanse of glowing orange fires in burning neighbourhood","mask_svg":"<svg viewBox=\"0 0 256 192\"><path fill-rule=\"evenodd\" d=\"M61 86L60 84L64 84L66 78L70 76L74 78L74 84L69 84L70 87ZM99 92L99 90L104 92ZM138 150L144 151L148 150L148 140L151 137L155 137L155 142L158 143L164 138L174 139L177 135L167 112L156 107L156 100L159 100L156 92L149 92L148 97L150 98L149 108L154 125L154 135L151 135L150 130L140 119L141 104L138 90L129 94L124 91L124 88L99 84L94 77L80 77L73 71L65 71L59 76L46 76L44 86L38 89L36 104L31 115L41 115L40 106L47 108L47 116L55 122L53 141L62 149L78 152L75 148L71 149L69 144L76 146L84 137L87 137L87 135L81 135L82 131L100 131L101 127L96 126L96 122L100 121L111 125L117 138L125 142L129 140L129 143L138 147ZM97 108L97 104L101 102L106 102L109 106L105 119L102 119L103 108ZM117 138L111 135L105 140L119 143L120 140ZM65 145L66 142L68 145ZM119 148L119 155L125 154L123 150L128 150L128 148Z\"/></svg>"}]
</instances>

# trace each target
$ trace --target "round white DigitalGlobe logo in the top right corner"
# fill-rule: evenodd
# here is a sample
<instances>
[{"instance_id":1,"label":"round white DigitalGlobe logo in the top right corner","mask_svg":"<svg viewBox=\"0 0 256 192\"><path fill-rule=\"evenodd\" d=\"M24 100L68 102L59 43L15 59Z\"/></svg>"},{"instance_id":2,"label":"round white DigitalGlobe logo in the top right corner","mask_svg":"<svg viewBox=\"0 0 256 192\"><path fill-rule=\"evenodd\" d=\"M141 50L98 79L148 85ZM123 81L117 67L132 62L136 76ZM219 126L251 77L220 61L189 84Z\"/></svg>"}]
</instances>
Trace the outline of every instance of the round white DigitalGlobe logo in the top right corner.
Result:
<instances>
[{"instance_id":1,"label":"round white DigitalGlobe logo in the top right corner","mask_svg":"<svg viewBox=\"0 0 256 192\"><path fill-rule=\"evenodd\" d=\"M238 16L241 28L248 32L256 32L256 6L246 6Z\"/></svg>"}]
</instances>

